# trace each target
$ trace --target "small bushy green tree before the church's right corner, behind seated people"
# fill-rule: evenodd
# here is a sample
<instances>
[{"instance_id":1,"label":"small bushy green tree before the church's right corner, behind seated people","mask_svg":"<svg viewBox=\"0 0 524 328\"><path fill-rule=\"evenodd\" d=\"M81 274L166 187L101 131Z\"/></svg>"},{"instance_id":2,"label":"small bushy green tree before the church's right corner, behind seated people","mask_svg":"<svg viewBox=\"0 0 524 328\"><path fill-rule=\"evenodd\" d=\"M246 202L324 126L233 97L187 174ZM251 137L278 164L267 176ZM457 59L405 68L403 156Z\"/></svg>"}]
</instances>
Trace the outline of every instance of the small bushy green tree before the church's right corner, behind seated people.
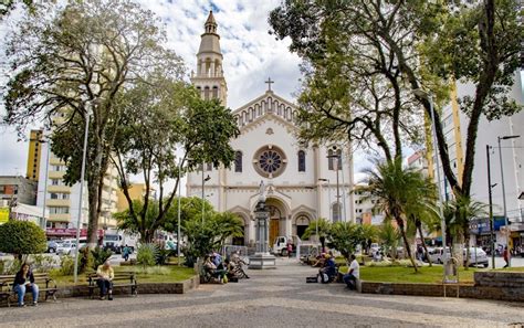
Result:
<instances>
[{"instance_id":1,"label":"small bushy green tree before the church's right corner, behind seated people","mask_svg":"<svg viewBox=\"0 0 524 328\"><path fill-rule=\"evenodd\" d=\"M355 253L358 245L366 241L364 226L352 222L333 223L328 236L335 250L342 253L349 263L349 256Z\"/></svg>"}]
</instances>

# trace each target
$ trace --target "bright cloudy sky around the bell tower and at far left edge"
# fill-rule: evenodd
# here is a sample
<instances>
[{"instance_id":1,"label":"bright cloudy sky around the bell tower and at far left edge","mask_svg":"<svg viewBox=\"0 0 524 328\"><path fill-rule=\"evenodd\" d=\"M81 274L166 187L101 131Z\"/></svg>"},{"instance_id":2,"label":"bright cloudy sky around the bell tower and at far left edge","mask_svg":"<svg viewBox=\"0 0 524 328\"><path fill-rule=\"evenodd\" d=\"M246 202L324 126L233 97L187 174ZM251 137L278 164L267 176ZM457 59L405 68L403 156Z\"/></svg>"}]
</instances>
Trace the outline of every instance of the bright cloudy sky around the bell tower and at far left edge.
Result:
<instances>
[{"instance_id":1,"label":"bright cloudy sky around the bell tower and at far left edge","mask_svg":"<svg viewBox=\"0 0 524 328\"><path fill-rule=\"evenodd\" d=\"M301 62L289 51L290 40L275 40L269 34L269 12L280 0L138 0L164 22L167 46L180 55L187 66L188 80L196 70L196 53L203 33L203 23L213 10L223 53L223 71L228 83L228 106L231 109L262 95L271 77L272 89L294 102L300 88ZM7 22L9 24L9 21ZM9 33L4 24L0 38ZM4 113L0 108L0 113ZM40 123L35 121L34 127ZM29 136L29 130L25 134ZM18 140L12 127L0 126L0 176L25 174L28 142ZM356 170L358 172L358 168Z\"/></svg>"}]
</instances>

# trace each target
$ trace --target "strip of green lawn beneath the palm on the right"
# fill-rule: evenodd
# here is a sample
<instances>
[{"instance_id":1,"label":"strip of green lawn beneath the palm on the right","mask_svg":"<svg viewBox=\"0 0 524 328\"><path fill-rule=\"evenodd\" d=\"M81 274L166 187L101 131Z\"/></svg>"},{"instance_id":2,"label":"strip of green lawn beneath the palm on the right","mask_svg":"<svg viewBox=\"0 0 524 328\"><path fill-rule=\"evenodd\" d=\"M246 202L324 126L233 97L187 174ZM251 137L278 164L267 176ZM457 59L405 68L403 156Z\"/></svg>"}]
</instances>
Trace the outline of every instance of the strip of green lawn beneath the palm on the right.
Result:
<instances>
[{"instance_id":1,"label":"strip of green lawn beneath the palm on the right","mask_svg":"<svg viewBox=\"0 0 524 328\"><path fill-rule=\"evenodd\" d=\"M441 283L442 282L442 266L425 266L419 267L419 272L415 273L412 267L404 266L360 266L360 279L365 282L381 282L381 283ZM478 268L470 267L464 271L459 268L459 282L473 283L473 273ZM340 267L340 273L346 273L346 267Z\"/></svg>"}]
</instances>

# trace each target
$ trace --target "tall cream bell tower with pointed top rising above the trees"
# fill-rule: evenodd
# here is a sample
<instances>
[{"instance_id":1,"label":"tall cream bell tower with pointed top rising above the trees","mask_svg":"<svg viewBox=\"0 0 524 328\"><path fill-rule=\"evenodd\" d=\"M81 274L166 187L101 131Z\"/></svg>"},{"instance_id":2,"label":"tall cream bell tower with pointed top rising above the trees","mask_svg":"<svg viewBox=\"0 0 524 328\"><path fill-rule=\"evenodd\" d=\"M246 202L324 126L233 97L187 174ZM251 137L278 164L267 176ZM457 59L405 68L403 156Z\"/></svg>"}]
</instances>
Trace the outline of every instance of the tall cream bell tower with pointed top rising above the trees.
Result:
<instances>
[{"instance_id":1,"label":"tall cream bell tower with pointed top rising above the trees","mask_svg":"<svg viewBox=\"0 0 524 328\"><path fill-rule=\"evenodd\" d=\"M212 11L209 12L203 27L205 32L197 53L197 73L191 72L191 83L203 99L218 98L223 106L227 106L228 85L223 77L220 35L217 34L217 22Z\"/></svg>"}]
</instances>

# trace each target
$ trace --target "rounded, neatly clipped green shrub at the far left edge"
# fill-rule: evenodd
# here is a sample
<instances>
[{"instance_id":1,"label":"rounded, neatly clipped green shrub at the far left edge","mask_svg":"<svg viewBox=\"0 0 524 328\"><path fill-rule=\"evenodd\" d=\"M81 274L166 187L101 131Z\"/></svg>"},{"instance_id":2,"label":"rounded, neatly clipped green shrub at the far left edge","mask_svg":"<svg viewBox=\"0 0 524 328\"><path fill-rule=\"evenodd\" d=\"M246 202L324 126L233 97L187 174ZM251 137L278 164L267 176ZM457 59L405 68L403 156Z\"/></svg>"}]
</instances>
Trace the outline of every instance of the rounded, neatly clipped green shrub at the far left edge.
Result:
<instances>
[{"instance_id":1,"label":"rounded, neatly clipped green shrub at the far left edge","mask_svg":"<svg viewBox=\"0 0 524 328\"><path fill-rule=\"evenodd\" d=\"M0 225L0 252L39 254L48 247L45 233L33 222L10 220Z\"/></svg>"}]
</instances>

